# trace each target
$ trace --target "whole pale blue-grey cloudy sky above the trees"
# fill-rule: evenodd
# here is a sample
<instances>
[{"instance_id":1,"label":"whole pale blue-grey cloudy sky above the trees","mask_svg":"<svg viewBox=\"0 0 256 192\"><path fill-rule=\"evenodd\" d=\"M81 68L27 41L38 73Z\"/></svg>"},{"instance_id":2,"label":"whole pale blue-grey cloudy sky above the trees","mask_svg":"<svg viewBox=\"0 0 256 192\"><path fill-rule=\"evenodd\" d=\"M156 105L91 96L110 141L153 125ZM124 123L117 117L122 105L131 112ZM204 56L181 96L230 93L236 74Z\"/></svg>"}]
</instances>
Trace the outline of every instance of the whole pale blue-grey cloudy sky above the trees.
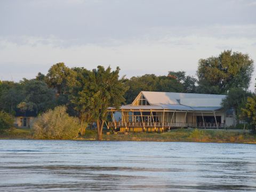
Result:
<instances>
[{"instance_id":1,"label":"whole pale blue-grey cloudy sky above the trees","mask_svg":"<svg viewBox=\"0 0 256 192\"><path fill-rule=\"evenodd\" d=\"M256 63L255 0L0 0L0 79L68 67L121 68L121 76L196 74L224 50ZM254 65L256 66L256 64ZM254 69L250 90L254 91Z\"/></svg>"}]
</instances>

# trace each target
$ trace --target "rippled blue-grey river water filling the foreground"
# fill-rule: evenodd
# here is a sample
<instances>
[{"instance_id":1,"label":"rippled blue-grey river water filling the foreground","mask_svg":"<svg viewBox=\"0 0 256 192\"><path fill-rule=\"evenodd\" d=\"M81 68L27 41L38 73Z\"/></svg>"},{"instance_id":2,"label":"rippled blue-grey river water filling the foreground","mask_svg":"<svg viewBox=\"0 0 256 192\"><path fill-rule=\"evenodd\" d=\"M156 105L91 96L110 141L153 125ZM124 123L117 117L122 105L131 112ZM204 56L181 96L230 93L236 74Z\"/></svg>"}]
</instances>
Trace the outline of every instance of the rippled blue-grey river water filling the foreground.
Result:
<instances>
[{"instance_id":1,"label":"rippled blue-grey river water filling the foreground","mask_svg":"<svg viewBox=\"0 0 256 192\"><path fill-rule=\"evenodd\" d=\"M1 191L256 191L256 145L0 140Z\"/></svg>"}]
</instances>

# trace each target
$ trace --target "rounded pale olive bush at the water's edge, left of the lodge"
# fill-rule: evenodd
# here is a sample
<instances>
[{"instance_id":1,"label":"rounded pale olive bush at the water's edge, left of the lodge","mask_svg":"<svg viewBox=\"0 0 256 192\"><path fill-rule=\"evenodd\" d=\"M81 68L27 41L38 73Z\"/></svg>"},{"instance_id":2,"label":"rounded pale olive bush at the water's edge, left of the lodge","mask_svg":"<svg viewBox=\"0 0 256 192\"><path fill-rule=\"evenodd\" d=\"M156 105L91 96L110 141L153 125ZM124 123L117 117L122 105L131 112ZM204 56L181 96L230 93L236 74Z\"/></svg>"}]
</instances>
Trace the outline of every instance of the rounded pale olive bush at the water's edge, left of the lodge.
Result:
<instances>
[{"instance_id":1,"label":"rounded pale olive bush at the water's edge, left of the lodge","mask_svg":"<svg viewBox=\"0 0 256 192\"><path fill-rule=\"evenodd\" d=\"M70 117L65 106L55 107L40 115L33 125L34 138L74 139L81 130L78 118Z\"/></svg>"}]
</instances>

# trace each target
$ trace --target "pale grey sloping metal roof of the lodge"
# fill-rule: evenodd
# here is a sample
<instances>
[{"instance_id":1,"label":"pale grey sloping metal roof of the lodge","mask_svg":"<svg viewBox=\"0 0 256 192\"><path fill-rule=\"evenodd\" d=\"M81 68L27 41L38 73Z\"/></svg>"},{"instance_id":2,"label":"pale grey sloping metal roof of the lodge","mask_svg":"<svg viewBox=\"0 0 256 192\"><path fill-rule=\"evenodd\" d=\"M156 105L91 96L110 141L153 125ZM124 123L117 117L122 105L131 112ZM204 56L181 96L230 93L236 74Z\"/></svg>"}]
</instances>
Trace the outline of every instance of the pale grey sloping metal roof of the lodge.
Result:
<instances>
[{"instance_id":1,"label":"pale grey sloping metal roof of the lodge","mask_svg":"<svg viewBox=\"0 0 256 192\"><path fill-rule=\"evenodd\" d=\"M226 95L141 91L150 105L125 105L121 110L215 111ZM137 98L139 97L137 96ZM115 109L115 108L108 108Z\"/></svg>"}]
</instances>

